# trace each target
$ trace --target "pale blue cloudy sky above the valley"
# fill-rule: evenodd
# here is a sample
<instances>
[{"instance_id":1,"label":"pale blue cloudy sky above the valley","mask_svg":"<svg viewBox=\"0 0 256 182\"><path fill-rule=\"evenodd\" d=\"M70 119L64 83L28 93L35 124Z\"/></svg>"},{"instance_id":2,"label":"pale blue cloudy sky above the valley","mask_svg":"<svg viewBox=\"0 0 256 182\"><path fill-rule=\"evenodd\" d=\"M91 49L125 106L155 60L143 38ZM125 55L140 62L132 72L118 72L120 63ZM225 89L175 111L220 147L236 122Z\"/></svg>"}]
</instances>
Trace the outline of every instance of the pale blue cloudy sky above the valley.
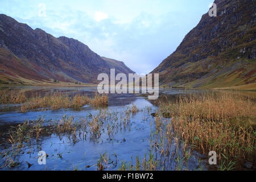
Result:
<instances>
[{"instance_id":1,"label":"pale blue cloudy sky above the valley","mask_svg":"<svg viewBox=\"0 0 256 182\"><path fill-rule=\"evenodd\" d=\"M67 36L100 56L147 74L166 59L209 11L213 0L0 0L0 14Z\"/></svg>"}]
</instances>

